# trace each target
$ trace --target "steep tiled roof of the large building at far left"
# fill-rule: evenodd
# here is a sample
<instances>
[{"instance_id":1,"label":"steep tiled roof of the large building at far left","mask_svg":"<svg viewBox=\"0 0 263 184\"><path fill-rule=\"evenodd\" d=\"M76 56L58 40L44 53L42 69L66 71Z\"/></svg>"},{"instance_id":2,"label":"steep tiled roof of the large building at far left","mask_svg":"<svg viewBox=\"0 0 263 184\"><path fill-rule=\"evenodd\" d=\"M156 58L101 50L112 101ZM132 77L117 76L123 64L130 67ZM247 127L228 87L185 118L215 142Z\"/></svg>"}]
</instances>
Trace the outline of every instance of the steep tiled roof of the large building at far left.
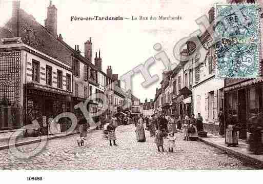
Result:
<instances>
[{"instance_id":1,"label":"steep tiled roof of the large building at far left","mask_svg":"<svg viewBox=\"0 0 263 184\"><path fill-rule=\"evenodd\" d=\"M85 57L79 54L76 50L64 42L62 38L51 34L44 26L35 21L32 15L29 15L23 9L19 9L19 37L22 38L23 43L41 51L63 63L72 67L72 54L80 59L83 63L91 66L96 70L95 66ZM13 18L10 18L4 28L0 28L0 38L14 37L11 29L8 27L12 25Z\"/></svg>"}]
</instances>

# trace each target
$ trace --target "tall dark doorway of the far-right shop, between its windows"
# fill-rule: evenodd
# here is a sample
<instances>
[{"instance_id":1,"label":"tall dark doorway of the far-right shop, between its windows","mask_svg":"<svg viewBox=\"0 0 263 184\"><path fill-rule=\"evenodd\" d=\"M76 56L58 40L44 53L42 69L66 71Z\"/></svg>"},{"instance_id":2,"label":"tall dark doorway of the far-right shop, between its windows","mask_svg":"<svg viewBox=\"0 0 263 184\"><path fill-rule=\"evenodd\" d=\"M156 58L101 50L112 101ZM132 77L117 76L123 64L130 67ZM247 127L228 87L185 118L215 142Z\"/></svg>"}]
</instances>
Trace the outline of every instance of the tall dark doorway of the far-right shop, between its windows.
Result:
<instances>
[{"instance_id":1,"label":"tall dark doorway of the far-right shop, between its windows","mask_svg":"<svg viewBox=\"0 0 263 184\"><path fill-rule=\"evenodd\" d=\"M247 95L246 90L242 89L238 91L238 123L241 125L239 131L239 138L247 138Z\"/></svg>"}]
</instances>

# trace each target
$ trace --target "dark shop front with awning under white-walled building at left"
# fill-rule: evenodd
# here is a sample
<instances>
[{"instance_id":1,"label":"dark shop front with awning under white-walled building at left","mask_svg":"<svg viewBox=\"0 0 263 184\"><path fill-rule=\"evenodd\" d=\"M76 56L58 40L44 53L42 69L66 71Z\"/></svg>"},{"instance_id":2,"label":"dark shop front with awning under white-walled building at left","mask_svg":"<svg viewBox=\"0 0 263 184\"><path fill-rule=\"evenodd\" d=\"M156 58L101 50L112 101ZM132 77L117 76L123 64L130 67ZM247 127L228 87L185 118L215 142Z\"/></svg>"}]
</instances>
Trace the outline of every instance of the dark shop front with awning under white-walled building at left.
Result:
<instances>
[{"instance_id":1,"label":"dark shop front with awning under white-walled building at left","mask_svg":"<svg viewBox=\"0 0 263 184\"><path fill-rule=\"evenodd\" d=\"M60 113L70 112L71 92L34 83L26 84L25 91L27 124L37 119L39 126L47 127L50 117L55 118ZM70 126L67 122L67 119L59 119L61 131L66 131Z\"/></svg>"}]
</instances>

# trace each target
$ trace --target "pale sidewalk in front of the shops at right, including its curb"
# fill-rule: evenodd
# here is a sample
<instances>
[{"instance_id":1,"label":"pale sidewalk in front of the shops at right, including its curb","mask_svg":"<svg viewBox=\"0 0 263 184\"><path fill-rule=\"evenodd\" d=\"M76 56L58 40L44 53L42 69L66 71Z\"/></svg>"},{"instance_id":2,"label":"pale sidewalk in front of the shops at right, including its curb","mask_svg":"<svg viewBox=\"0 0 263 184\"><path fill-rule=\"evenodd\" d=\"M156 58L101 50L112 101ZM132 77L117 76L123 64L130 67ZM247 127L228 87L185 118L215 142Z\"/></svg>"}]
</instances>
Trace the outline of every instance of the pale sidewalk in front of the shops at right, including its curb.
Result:
<instances>
[{"instance_id":1,"label":"pale sidewalk in front of the shops at right, including its curb","mask_svg":"<svg viewBox=\"0 0 263 184\"><path fill-rule=\"evenodd\" d=\"M256 165L263 167L263 155L252 154L248 150L249 145L246 140L238 139L237 147L227 147L225 144L225 137L215 136L212 134L208 134L207 137L199 137L199 140L220 150L226 151L227 153L230 153L238 158L252 161Z\"/></svg>"}]
</instances>

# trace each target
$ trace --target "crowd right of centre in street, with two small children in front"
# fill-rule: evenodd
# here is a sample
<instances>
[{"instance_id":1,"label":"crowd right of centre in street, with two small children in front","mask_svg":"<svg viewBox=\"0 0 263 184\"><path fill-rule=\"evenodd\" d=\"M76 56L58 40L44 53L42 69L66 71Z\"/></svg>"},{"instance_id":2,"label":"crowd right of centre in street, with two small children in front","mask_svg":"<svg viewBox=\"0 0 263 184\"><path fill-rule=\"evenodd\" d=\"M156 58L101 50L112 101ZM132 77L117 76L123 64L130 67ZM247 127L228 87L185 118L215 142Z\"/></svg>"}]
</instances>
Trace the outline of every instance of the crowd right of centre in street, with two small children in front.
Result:
<instances>
[{"instance_id":1,"label":"crowd right of centre in street, with two small children in front","mask_svg":"<svg viewBox=\"0 0 263 184\"><path fill-rule=\"evenodd\" d=\"M145 130L144 123L146 124L146 130L150 131L151 137L154 137L154 142L157 146L157 151L160 152L160 148L164 151L164 137L168 138L169 152L173 152L175 146L175 133L177 129L183 128L185 135L184 140L197 140L198 131L203 131L203 117L198 113L197 117L192 114L191 118L187 115L185 119L179 116L166 116L161 114L158 117L152 116L140 116L138 122L135 122L135 133L138 142L145 142ZM182 125L183 124L183 125Z\"/></svg>"}]
</instances>

